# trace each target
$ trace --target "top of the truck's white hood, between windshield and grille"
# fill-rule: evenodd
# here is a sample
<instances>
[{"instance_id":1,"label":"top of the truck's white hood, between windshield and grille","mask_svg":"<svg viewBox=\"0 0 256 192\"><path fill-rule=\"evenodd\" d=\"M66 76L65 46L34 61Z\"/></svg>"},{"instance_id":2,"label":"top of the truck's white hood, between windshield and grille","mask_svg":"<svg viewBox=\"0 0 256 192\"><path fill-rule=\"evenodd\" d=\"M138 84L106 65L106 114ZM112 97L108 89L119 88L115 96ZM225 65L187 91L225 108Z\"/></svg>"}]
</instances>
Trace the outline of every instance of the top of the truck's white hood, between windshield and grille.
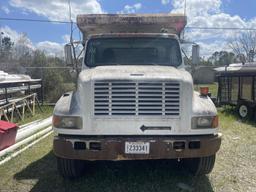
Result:
<instances>
[{"instance_id":1,"label":"top of the truck's white hood, between windshield and grille","mask_svg":"<svg viewBox=\"0 0 256 192\"><path fill-rule=\"evenodd\" d=\"M79 74L79 80L87 82L102 79L159 79L159 80L189 80L192 82L191 75L184 69L176 69L170 66L132 66L115 65L99 66L83 70Z\"/></svg>"}]
</instances>

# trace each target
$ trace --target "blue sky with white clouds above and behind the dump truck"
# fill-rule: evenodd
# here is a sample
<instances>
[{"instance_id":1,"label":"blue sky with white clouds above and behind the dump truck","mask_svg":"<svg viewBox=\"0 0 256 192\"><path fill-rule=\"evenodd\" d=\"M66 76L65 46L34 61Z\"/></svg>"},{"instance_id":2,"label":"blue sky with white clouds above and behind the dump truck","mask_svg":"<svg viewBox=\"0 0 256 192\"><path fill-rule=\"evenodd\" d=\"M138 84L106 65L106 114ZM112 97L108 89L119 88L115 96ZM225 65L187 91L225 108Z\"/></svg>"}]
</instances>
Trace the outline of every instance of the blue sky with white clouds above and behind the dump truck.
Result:
<instances>
[{"instance_id":1,"label":"blue sky with white clouds above and behind the dump truck","mask_svg":"<svg viewBox=\"0 0 256 192\"><path fill-rule=\"evenodd\" d=\"M184 0L71 0L72 18L76 13L180 13ZM187 0L188 25L255 27L255 0ZM67 0L1 0L0 17L68 20ZM36 48L60 49L68 38L67 24L0 20L0 30L17 40L24 32ZM76 31L76 37L77 36ZM223 31L189 31L188 39L199 41L207 52L225 49L223 40L235 35ZM211 44L211 45L210 45Z\"/></svg>"}]
</instances>

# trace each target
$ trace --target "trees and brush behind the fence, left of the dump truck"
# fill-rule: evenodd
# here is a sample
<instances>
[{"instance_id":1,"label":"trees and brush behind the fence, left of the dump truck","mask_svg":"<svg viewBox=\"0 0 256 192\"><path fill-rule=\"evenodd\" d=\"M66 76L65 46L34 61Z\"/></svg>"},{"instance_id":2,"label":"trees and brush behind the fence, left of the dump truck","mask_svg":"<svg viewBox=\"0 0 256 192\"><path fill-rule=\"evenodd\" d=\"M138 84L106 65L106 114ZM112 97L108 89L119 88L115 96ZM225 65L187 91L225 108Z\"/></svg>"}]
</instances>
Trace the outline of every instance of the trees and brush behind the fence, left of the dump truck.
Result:
<instances>
[{"instance_id":1,"label":"trees and brush behind the fence, left of the dump truck","mask_svg":"<svg viewBox=\"0 0 256 192\"><path fill-rule=\"evenodd\" d=\"M55 103L64 92L75 88L74 79L69 69L63 69L65 62L62 57L32 49L27 41L25 34L16 43L10 37L2 38L0 70L42 79L44 101Z\"/></svg>"}]
</instances>

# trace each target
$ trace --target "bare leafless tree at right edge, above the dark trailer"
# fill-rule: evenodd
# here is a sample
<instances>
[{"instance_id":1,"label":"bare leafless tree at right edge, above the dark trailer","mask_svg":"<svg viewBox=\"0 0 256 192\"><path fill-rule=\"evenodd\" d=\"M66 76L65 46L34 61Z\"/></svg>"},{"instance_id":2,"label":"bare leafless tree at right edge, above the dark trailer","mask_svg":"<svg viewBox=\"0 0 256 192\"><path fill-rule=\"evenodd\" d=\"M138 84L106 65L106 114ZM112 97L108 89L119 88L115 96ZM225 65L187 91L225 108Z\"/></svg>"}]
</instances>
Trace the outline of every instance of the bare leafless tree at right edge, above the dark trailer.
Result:
<instances>
[{"instance_id":1,"label":"bare leafless tree at right edge, above the dark trailer","mask_svg":"<svg viewBox=\"0 0 256 192\"><path fill-rule=\"evenodd\" d=\"M246 31L229 41L229 47L246 61L253 61L256 56L256 32Z\"/></svg>"}]
</instances>

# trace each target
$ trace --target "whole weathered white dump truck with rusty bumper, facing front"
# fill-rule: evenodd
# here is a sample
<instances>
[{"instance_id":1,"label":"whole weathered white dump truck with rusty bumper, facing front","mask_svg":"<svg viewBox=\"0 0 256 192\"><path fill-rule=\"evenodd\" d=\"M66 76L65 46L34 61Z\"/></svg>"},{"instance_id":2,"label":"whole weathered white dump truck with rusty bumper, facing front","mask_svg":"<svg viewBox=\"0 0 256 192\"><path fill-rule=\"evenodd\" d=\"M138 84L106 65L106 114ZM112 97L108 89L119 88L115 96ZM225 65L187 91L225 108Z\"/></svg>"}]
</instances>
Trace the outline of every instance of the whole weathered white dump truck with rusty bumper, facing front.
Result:
<instances>
[{"instance_id":1,"label":"whole weathered white dump truck with rusty bumper, facing front","mask_svg":"<svg viewBox=\"0 0 256 192\"><path fill-rule=\"evenodd\" d=\"M60 173L80 176L86 161L146 159L211 172L221 134L207 89L195 92L184 69L186 17L78 15L77 25L84 45L77 89L59 99L53 115ZM71 50L66 46L67 61Z\"/></svg>"}]
</instances>

